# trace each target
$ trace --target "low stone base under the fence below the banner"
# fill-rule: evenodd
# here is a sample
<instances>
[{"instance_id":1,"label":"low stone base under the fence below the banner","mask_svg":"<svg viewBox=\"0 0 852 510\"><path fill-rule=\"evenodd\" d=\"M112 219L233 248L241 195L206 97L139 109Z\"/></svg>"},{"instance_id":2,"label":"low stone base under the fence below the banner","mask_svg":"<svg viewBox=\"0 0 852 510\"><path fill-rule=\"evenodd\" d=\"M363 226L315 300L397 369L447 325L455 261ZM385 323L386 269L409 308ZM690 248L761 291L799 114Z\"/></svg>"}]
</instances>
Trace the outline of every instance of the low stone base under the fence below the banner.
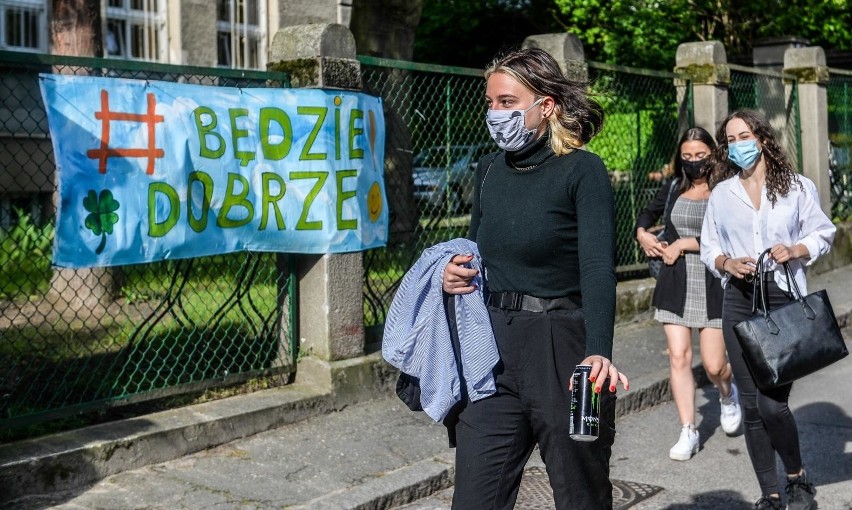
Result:
<instances>
[{"instance_id":1,"label":"low stone base under the fence below the banner","mask_svg":"<svg viewBox=\"0 0 852 510\"><path fill-rule=\"evenodd\" d=\"M262 390L0 446L0 505L59 492L333 411L309 386Z\"/></svg>"}]
</instances>

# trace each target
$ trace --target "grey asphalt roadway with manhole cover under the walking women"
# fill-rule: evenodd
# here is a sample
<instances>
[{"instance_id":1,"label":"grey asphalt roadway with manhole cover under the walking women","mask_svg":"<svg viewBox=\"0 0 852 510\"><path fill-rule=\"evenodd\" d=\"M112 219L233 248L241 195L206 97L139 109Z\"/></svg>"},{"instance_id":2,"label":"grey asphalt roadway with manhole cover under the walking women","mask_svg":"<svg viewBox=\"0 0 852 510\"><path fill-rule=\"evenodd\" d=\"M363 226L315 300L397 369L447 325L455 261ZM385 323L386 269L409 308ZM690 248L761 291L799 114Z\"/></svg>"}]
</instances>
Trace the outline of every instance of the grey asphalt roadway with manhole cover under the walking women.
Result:
<instances>
[{"instance_id":1,"label":"grey asphalt roadway with manhole cover under the walking women","mask_svg":"<svg viewBox=\"0 0 852 510\"><path fill-rule=\"evenodd\" d=\"M847 342L852 328L846 329ZM790 409L796 417L802 460L817 486L820 510L852 509L852 393L836 391L852 377L852 357L796 382ZM710 385L696 392L701 451L686 462L668 458L677 438L673 403L624 416L618 421L610 476L615 510L752 510L759 488L748 460L745 437L725 435L719 426L719 393ZM541 462L527 464L515 506L553 508ZM779 490L785 474L778 466ZM450 510L453 488L398 510Z\"/></svg>"}]
</instances>

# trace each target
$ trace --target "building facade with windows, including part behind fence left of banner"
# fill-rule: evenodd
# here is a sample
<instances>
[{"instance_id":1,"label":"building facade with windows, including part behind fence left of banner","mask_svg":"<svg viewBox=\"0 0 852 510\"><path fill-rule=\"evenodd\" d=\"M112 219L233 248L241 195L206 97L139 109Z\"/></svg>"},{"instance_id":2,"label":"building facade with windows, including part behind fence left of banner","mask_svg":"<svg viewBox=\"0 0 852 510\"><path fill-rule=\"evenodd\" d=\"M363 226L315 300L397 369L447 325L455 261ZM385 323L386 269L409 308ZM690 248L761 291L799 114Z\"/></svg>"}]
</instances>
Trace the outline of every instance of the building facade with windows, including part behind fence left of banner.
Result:
<instances>
[{"instance_id":1,"label":"building facade with windows, including part behind fence left of banner","mask_svg":"<svg viewBox=\"0 0 852 510\"><path fill-rule=\"evenodd\" d=\"M56 0L0 0L0 50L53 53ZM162 64L265 69L272 36L284 26L349 26L351 0L101 0L104 58ZM28 215L53 215L53 162L37 97L15 90L19 73L0 64L0 229ZM34 156L38 155L38 157ZM43 157L42 157L43 155Z\"/></svg>"}]
</instances>

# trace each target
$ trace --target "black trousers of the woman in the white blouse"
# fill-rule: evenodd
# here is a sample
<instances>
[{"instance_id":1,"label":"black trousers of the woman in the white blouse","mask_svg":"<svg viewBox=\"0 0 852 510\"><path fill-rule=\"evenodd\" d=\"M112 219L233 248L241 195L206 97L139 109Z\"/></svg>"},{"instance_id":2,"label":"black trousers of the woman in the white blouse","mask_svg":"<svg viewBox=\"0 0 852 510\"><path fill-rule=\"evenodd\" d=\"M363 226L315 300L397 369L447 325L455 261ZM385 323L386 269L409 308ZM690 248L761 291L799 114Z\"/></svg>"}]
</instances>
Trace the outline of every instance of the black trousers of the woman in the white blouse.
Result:
<instances>
[{"instance_id":1,"label":"black trousers of the woman in the white blouse","mask_svg":"<svg viewBox=\"0 0 852 510\"><path fill-rule=\"evenodd\" d=\"M769 308L791 301L771 276L767 280ZM734 325L752 315L752 294L753 284L736 278L731 279L731 285L725 289L722 331L725 347L728 349L728 359L740 392L746 448L761 492L767 496L779 494L775 454L778 453L781 457L788 474L799 472L802 457L796 420L787 405L793 385L761 392L754 384L739 340L734 333Z\"/></svg>"}]
</instances>

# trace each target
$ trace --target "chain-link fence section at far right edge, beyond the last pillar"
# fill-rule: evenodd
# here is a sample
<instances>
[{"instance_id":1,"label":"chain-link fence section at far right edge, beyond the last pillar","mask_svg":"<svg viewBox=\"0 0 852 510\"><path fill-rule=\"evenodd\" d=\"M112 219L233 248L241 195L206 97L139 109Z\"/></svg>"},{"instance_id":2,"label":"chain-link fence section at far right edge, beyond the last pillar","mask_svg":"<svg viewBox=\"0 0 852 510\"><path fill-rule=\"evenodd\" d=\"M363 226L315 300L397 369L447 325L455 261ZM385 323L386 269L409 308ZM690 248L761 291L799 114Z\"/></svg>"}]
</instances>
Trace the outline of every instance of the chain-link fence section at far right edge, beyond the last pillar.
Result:
<instances>
[{"instance_id":1,"label":"chain-link fence section at far right edge, beyond the last pillar","mask_svg":"<svg viewBox=\"0 0 852 510\"><path fill-rule=\"evenodd\" d=\"M829 168L831 213L838 221L852 219L852 71L829 69Z\"/></svg>"}]
</instances>

